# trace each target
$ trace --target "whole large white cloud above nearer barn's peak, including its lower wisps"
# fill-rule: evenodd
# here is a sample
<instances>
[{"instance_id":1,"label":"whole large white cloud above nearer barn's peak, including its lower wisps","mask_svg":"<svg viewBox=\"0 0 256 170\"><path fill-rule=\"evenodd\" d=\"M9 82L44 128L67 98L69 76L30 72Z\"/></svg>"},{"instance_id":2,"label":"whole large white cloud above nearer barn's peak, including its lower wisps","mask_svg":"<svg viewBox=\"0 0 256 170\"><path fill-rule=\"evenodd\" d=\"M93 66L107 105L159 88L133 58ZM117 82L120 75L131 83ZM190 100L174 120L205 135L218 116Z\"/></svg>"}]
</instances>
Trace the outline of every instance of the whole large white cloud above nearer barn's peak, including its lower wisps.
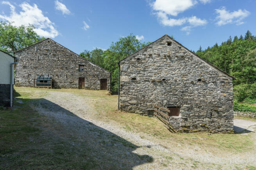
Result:
<instances>
[{"instance_id":1,"label":"whole large white cloud above nearer barn's peak, including its lower wisps","mask_svg":"<svg viewBox=\"0 0 256 170\"><path fill-rule=\"evenodd\" d=\"M199 0L200 2L206 4L211 0ZM190 33L191 29L196 26L203 26L207 24L206 19L200 19L196 16L191 17L180 17L174 18L179 13L184 12L195 4L197 0L155 0L151 3L151 7L154 14L158 17L159 22L164 26L181 26L186 25L181 28L182 31L186 31L187 34ZM173 16L173 17L172 17Z\"/></svg>"}]
</instances>

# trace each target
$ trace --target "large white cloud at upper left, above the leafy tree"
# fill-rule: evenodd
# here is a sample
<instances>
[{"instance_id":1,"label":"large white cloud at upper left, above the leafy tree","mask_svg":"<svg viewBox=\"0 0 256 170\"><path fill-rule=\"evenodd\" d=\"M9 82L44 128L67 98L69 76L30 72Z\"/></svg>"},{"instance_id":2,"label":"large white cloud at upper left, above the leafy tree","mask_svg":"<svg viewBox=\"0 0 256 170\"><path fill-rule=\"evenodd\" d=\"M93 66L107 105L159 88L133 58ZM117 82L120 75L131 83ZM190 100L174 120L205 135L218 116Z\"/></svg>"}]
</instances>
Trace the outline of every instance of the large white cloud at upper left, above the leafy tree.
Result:
<instances>
[{"instance_id":1,"label":"large white cloud at upper left, above the leafy tree","mask_svg":"<svg viewBox=\"0 0 256 170\"><path fill-rule=\"evenodd\" d=\"M28 26L29 24L32 24L36 27L34 31L43 37L54 38L59 35L59 32L54 27L54 23L52 23L48 17L43 15L43 12L38 9L36 4L33 4L32 6L27 2L23 2L19 5L22 10L19 13L15 11L14 5L12 5L10 2L3 1L2 4L10 6L11 14L10 16L0 15L0 18L9 22L14 22L12 25Z\"/></svg>"}]
</instances>

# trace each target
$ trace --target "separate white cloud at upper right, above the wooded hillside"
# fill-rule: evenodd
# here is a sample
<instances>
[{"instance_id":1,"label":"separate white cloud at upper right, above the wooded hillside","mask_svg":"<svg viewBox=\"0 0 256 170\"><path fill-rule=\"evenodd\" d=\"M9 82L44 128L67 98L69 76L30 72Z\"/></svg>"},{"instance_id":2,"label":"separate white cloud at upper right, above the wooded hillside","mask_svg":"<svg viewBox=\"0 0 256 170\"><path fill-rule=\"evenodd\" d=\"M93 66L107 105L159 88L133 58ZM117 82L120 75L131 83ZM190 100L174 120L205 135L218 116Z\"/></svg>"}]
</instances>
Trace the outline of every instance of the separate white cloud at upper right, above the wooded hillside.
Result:
<instances>
[{"instance_id":1,"label":"separate white cloud at upper right, above the wooded hillside","mask_svg":"<svg viewBox=\"0 0 256 170\"><path fill-rule=\"evenodd\" d=\"M249 16L250 12L247 10L238 9L238 11L229 12L226 7L215 9L218 16L216 17L217 25L226 25L228 23L236 23L236 25L243 24L242 19Z\"/></svg>"}]
</instances>

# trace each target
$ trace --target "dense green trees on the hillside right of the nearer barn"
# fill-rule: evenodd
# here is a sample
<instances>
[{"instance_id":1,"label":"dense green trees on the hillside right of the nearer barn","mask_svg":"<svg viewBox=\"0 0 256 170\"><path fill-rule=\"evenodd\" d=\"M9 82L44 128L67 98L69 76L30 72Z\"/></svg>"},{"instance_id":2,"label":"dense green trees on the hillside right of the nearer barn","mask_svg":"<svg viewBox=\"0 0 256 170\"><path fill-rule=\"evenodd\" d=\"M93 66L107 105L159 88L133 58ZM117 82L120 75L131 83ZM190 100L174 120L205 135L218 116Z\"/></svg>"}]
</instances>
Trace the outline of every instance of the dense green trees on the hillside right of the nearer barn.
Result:
<instances>
[{"instance_id":1,"label":"dense green trees on the hillside right of the nearer barn","mask_svg":"<svg viewBox=\"0 0 256 170\"><path fill-rule=\"evenodd\" d=\"M234 76L235 102L256 103L256 36L248 30L244 37L229 38L196 52L201 58Z\"/></svg>"}]
</instances>

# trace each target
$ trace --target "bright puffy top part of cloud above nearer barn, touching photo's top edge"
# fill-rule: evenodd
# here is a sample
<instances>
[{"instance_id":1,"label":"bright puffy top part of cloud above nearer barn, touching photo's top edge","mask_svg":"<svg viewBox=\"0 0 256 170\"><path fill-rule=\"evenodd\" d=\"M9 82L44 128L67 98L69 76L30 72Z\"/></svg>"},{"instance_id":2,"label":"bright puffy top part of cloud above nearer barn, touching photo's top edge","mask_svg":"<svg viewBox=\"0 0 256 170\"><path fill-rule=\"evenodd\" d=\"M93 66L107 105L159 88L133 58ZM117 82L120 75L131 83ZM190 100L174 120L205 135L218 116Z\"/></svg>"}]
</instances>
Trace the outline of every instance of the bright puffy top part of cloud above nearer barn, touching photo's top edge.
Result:
<instances>
[{"instance_id":1,"label":"bright puffy top part of cloud above nearer barn, touching photo's top edge","mask_svg":"<svg viewBox=\"0 0 256 170\"><path fill-rule=\"evenodd\" d=\"M151 6L155 11L177 16L195 4L197 4L195 0L156 0Z\"/></svg>"}]
</instances>

